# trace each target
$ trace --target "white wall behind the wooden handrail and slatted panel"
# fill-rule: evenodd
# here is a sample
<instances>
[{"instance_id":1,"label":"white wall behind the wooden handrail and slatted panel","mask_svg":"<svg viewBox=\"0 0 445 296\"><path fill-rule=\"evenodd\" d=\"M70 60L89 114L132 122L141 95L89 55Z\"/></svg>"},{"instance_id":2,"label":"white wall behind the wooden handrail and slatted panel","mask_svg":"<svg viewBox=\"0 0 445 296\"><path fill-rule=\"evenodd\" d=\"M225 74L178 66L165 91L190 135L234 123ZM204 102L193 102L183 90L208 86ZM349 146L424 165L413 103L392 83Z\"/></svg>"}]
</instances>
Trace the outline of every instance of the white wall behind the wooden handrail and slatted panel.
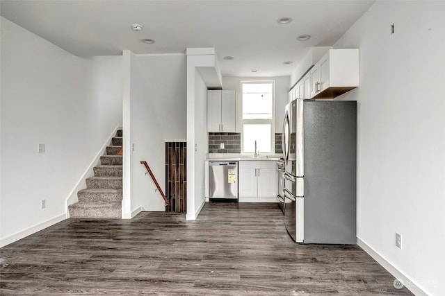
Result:
<instances>
[{"instance_id":1,"label":"white wall behind the wooden handrail and slatted panel","mask_svg":"<svg viewBox=\"0 0 445 296\"><path fill-rule=\"evenodd\" d=\"M128 152L134 144L134 151L124 155L124 162L129 159L129 210L134 216L140 209L165 211L163 198L140 161L147 161L165 193L165 141L186 140L186 55L131 55L129 71L130 113L124 122L130 132L124 147Z\"/></svg>"}]
</instances>

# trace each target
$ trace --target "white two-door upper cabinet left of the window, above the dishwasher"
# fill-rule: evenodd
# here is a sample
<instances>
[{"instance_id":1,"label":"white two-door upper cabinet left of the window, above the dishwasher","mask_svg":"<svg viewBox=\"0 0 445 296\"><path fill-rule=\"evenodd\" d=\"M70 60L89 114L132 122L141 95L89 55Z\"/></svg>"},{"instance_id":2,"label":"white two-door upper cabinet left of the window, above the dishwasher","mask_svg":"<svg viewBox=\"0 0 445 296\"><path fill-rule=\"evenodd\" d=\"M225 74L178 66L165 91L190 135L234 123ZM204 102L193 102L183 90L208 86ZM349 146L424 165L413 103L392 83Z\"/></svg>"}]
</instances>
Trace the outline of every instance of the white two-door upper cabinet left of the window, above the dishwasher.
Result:
<instances>
[{"instance_id":1,"label":"white two-door upper cabinet left of the window, above the dishwasher","mask_svg":"<svg viewBox=\"0 0 445 296\"><path fill-rule=\"evenodd\" d=\"M236 92L207 91L207 132L236 132Z\"/></svg>"}]
</instances>

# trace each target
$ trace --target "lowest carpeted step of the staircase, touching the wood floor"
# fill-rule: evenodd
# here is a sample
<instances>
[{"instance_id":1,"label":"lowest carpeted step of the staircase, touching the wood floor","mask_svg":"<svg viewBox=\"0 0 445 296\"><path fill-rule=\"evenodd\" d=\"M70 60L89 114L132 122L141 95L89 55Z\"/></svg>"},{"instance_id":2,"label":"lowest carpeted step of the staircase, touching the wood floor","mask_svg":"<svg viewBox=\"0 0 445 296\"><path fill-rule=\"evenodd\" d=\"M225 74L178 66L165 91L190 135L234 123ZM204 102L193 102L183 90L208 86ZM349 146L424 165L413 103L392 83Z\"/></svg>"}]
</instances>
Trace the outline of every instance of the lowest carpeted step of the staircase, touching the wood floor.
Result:
<instances>
[{"instance_id":1,"label":"lowest carpeted step of the staircase, touching the wood floor","mask_svg":"<svg viewBox=\"0 0 445 296\"><path fill-rule=\"evenodd\" d=\"M120 202L108 202L103 207L83 207L77 204L70 205L71 218L122 218L122 205Z\"/></svg>"}]
</instances>

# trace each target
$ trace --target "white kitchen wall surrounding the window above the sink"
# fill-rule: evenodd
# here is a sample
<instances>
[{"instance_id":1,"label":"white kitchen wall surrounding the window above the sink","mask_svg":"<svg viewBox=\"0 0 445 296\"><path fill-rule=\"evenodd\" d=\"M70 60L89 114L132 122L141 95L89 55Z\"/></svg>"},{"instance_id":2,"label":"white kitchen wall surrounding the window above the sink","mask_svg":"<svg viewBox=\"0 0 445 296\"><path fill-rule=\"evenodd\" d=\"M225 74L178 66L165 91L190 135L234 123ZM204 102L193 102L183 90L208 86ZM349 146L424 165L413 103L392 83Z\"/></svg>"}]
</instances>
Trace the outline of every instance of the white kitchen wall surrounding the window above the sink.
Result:
<instances>
[{"instance_id":1,"label":"white kitchen wall surrounding the window above the sink","mask_svg":"<svg viewBox=\"0 0 445 296\"><path fill-rule=\"evenodd\" d=\"M237 95L237 110L241 110L241 81L242 80L275 80L275 132L282 132L284 107L288 103L290 85L289 76L279 77L223 77L223 89L235 89ZM236 118L236 132L241 132L241 112Z\"/></svg>"}]
</instances>

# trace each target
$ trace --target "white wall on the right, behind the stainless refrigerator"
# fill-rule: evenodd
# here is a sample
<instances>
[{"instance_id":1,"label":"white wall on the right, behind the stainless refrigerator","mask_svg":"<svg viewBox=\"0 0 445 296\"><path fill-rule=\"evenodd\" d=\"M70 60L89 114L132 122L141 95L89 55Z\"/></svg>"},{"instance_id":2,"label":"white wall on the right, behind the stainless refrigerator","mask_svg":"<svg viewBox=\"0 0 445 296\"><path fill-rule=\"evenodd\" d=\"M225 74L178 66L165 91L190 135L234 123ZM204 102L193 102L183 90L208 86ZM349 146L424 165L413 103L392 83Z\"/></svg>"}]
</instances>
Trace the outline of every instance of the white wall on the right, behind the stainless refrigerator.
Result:
<instances>
[{"instance_id":1,"label":"white wall on the right, behind the stainless refrigerator","mask_svg":"<svg viewBox=\"0 0 445 296\"><path fill-rule=\"evenodd\" d=\"M339 98L358 107L357 237L437 296L445 295L444 15L444 1L377 1L334 45L360 49L360 87Z\"/></svg>"}]
</instances>

